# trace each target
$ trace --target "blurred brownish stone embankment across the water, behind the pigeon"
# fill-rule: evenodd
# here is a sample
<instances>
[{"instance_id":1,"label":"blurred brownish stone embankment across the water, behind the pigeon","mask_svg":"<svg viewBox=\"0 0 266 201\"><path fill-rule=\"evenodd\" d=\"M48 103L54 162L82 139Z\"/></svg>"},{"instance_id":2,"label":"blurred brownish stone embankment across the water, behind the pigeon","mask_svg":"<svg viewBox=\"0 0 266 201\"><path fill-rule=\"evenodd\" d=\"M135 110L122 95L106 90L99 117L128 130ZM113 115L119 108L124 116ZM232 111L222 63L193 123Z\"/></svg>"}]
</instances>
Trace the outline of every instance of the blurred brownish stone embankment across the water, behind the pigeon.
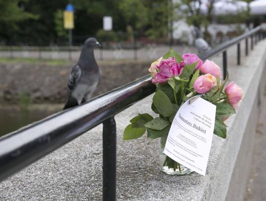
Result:
<instances>
[{"instance_id":1,"label":"blurred brownish stone embankment across the water, behind the pigeon","mask_svg":"<svg viewBox=\"0 0 266 201\"><path fill-rule=\"evenodd\" d=\"M99 61L100 84L93 97L148 74L151 61ZM64 103L75 62L1 62L0 104Z\"/></svg>"}]
</instances>

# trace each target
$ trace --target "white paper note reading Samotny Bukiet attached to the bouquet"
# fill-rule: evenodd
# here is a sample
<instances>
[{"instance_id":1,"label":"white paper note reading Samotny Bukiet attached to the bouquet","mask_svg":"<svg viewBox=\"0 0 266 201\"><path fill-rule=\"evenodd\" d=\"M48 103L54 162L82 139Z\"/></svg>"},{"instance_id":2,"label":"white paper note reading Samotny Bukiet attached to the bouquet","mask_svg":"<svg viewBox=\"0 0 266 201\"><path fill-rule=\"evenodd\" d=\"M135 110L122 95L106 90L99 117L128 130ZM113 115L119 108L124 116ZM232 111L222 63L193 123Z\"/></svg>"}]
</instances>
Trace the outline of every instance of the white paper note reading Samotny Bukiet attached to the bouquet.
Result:
<instances>
[{"instance_id":1,"label":"white paper note reading Samotny Bukiet attached to the bouquet","mask_svg":"<svg viewBox=\"0 0 266 201\"><path fill-rule=\"evenodd\" d=\"M197 99L196 99L197 98ZM215 124L216 106L196 97L177 111L164 153L205 176Z\"/></svg>"}]
</instances>

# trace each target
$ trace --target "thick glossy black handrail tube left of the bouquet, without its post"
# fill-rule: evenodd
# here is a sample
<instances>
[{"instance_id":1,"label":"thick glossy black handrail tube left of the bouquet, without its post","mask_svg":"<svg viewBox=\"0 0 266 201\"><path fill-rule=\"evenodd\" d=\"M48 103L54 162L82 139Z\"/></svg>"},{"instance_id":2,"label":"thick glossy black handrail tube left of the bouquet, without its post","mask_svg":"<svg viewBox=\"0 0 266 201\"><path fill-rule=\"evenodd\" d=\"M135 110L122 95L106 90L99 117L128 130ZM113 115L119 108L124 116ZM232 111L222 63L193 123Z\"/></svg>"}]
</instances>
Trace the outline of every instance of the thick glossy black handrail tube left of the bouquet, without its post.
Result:
<instances>
[{"instance_id":1,"label":"thick glossy black handrail tube left of the bouquet, without its post","mask_svg":"<svg viewBox=\"0 0 266 201\"><path fill-rule=\"evenodd\" d=\"M155 91L150 76L3 136L0 181Z\"/></svg>"}]
</instances>

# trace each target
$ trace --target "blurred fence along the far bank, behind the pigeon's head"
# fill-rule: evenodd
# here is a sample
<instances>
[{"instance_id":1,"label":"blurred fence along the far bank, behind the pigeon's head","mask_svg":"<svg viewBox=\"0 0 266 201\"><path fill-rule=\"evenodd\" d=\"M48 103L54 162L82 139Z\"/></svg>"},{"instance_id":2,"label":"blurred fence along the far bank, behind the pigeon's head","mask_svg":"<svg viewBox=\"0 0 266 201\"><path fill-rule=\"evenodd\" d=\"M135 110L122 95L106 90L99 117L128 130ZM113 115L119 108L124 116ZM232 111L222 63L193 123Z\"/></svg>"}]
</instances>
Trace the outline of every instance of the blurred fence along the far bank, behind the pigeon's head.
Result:
<instances>
[{"instance_id":1,"label":"blurred fence along the far bank, behind the pigeon's head","mask_svg":"<svg viewBox=\"0 0 266 201\"><path fill-rule=\"evenodd\" d=\"M197 48L187 45L174 45L178 52L197 52ZM168 51L169 46L164 44L138 44L135 47L126 47L120 43L109 45L109 48L94 50L97 60L129 59L150 60L156 59ZM0 57L7 58L37 58L37 59L66 59L78 60L81 46L0 46Z\"/></svg>"}]
</instances>

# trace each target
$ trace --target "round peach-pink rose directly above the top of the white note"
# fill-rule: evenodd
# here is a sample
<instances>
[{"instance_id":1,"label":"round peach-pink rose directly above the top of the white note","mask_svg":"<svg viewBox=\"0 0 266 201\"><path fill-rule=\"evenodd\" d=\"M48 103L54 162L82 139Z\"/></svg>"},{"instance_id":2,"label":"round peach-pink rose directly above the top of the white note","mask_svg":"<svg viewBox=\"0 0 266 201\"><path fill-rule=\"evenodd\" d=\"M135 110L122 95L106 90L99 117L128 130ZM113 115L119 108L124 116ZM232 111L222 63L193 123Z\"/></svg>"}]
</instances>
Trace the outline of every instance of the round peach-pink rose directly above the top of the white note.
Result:
<instances>
[{"instance_id":1,"label":"round peach-pink rose directly above the top of the white note","mask_svg":"<svg viewBox=\"0 0 266 201\"><path fill-rule=\"evenodd\" d=\"M216 78L211 74L206 74L199 76L193 84L193 87L198 93L206 93L211 90L212 87L216 86L216 84Z\"/></svg>"}]
</instances>

